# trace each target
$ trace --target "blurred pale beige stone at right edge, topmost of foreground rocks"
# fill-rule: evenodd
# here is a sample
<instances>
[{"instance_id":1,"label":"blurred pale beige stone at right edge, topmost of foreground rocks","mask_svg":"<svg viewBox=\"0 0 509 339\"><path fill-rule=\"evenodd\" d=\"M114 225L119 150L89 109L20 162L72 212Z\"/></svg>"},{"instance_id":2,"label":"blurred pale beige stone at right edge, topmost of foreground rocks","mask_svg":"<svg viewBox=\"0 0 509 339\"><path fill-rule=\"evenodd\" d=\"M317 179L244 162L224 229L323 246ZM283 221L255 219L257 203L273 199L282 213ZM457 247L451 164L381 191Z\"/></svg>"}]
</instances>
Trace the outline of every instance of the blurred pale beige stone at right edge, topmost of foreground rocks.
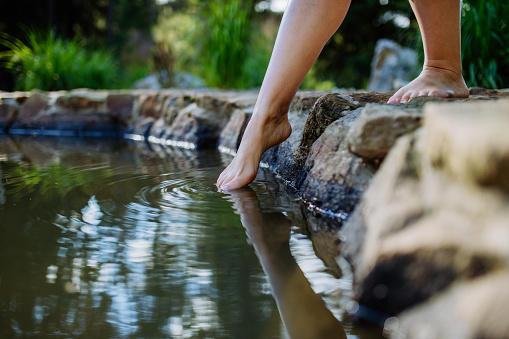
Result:
<instances>
[{"instance_id":1,"label":"blurred pale beige stone at right edge, topmost of foreground rocks","mask_svg":"<svg viewBox=\"0 0 509 339\"><path fill-rule=\"evenodd\" d=\"M509 191L509 100L427 105L424 152L472 185Z\"/></svg>"}]
</instances>

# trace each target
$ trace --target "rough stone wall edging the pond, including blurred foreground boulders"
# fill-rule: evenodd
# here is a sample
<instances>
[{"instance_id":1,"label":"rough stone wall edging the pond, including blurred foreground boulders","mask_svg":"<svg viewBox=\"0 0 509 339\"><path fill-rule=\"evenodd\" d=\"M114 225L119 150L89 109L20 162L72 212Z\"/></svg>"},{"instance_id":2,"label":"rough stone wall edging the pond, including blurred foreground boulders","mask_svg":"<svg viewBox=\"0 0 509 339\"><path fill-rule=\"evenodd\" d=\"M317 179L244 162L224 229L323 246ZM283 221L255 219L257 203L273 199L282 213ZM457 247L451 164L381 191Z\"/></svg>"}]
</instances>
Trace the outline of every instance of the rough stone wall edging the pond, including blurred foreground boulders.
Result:
<instances>
[{"instance_id":1,"label":"rough stone wall edging the pond, including blurred foreground boulders","mask_svg":"<svg viewBox=\"0 0 509 339\"><path fill-rule=\"evenodd\" d=\"M355 298L397 317L386 322L393 338L509 337L509 91L470 93L395 105L386 93L298 93L292 136L262 159L315 217L332 217L309 230L315 248L335 241L320 227L339 230ZM0 93L0 129L234 154L256 95Z\"/></svg>"}]
</instances>

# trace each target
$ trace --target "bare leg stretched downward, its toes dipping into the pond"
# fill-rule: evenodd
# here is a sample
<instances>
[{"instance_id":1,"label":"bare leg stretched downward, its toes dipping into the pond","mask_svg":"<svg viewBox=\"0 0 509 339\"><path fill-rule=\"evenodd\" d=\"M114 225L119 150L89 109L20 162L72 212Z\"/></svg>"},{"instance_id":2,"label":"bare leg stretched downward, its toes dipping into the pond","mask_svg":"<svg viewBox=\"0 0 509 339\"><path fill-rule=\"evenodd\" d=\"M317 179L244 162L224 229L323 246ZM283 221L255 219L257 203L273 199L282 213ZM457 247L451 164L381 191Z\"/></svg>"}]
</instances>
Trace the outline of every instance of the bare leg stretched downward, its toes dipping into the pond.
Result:
<instances>
[{"instance_id":1,"label":"bare leg stretched downward, its toes dipping into the pond","mask_svg":"<svg viewBox=\"0 0 509 339\"><path fill-rule=\"evenodd\" d=\"M337 30L350 0L292 0L283 16L254 113L237 155L219 176L221 189L236 189L254 180L268 148L288 138L287 112L297 89Z\"/></svg>"}]
</instances>

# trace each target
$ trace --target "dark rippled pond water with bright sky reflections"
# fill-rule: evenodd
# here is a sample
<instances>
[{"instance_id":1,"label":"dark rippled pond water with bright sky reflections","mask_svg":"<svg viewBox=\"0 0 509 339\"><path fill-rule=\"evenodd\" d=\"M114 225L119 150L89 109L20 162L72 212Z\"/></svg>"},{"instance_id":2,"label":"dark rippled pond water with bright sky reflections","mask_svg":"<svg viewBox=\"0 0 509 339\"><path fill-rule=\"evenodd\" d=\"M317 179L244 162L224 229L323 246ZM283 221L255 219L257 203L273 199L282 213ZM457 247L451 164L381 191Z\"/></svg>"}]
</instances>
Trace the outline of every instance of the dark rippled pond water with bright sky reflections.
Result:
<instances>
[{"instance_id":1,"label":"dark rippled pond water with bright sky reflections","mask_svg":"<svg viewBox=\"0 0 509 339\"><path fill-rule=\"evenodd\" d=\"M0 338L380 338L276 178L217 191L229 160L0 136Z\"/></svg>"}]
</instances>

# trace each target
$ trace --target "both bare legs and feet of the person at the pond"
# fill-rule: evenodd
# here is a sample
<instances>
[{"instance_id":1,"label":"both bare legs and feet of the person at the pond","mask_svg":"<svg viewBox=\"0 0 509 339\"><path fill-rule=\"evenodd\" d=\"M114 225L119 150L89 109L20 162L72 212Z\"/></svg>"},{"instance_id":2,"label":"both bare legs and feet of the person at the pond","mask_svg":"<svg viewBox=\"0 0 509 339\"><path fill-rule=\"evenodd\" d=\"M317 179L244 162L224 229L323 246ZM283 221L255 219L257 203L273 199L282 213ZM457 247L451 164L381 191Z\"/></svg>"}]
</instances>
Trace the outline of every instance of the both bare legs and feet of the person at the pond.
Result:
<instances>
[{"instance_id":1,"label":"both bare legs and feet of the person at the pond","mask_svg":"<svg viewBox=\"0 0 509 339\"><path fill-rule=\"evenodd\" d=\"M418 96L468 97L461 75L460 0L411 0L410 4L421 29L425 61L421 74L388 103L407 103ZM252 182L263 153L290 136L290 103L349 6L349 0L290 1L251 120L235 158L217 180L221 190Z\"/></svg>"}]
</instances>

